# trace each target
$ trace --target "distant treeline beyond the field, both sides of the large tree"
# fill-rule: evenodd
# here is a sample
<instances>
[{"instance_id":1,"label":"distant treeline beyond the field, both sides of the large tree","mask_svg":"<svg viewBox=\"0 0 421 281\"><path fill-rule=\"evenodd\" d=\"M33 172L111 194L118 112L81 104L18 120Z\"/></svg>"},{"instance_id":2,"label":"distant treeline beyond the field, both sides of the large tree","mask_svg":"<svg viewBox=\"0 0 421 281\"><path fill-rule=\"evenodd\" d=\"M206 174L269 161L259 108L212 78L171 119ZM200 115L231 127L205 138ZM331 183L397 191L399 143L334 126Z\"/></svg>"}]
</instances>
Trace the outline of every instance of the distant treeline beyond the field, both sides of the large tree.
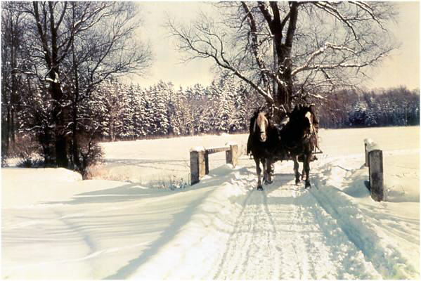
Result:
<instances>
[{"instance_id":1,"label":"distant treeline beyond the field, both sides of the large tree","mask_svg":"<svg viewBox=\"0 0 421 281\"><path fill-rule=\"evenodd\" d=\"M210 86L175 90L160 81L142 88L108 80L89 102L105 140L247 132L252 112L264 104L244 84L220 78ZM342 90L320 100L322 128L420 124L420 95L405 87L357 92Z\"/></svg>"}]
</instances>

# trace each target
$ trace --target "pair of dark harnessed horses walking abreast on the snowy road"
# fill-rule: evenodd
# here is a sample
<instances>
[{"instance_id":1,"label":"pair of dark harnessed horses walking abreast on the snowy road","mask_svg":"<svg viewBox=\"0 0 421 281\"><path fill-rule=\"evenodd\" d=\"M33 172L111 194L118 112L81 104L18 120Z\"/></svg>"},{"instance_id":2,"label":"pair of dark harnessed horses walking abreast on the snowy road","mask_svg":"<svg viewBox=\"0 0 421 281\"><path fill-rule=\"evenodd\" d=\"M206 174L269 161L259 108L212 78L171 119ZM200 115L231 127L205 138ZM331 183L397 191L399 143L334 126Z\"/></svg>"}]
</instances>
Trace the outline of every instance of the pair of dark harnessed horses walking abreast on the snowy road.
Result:
<instances>
[{"instance_id":1,"label":"pair of dark harnessed horses walking abreast on the snowy road","mask_svg":"<svg viewBox=\"0 0 421 281\"><path fill-rule=\"evenodd\" d=\"M250 135L247 141L247 154L253 155L257 171L257 189L262 190L263 182L272 183L272 164L278 160L294 161L295 183L300 182L299 162L303 162L302 178L305 188L311 187L309 181L310 162L316 157L313 152L317 145L318 122L313 106L296 105L287 113L289 119L282 128L271 122L271 118L263 109L254 112L250 119Z\"/></svg>"}]
</instances>

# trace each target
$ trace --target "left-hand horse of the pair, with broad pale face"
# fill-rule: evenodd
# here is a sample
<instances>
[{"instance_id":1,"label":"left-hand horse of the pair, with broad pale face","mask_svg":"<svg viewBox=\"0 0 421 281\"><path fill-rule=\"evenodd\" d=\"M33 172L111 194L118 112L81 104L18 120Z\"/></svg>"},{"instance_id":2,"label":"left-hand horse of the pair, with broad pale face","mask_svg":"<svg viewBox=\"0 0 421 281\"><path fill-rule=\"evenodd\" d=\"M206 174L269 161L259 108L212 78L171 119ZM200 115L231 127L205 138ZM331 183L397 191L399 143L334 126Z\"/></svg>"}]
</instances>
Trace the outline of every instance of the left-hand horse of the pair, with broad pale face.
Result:
<instances>
[{"instance_id":1,"label":"left-hand horse of the pair, with broad pale face","mask_svg":"<svg viewBox=\"0 0 421 281\"><path fill-rule=\"evenodd\" d=\"M260 163L263 166L264 184L272 183L271 159L273 152L279 146L279 133L273 126L268 112L262 108L257 109L250 119L249 131L247 155L251 153L256 163L257 190L263 190Z\"/></svg>"}]
</instances>

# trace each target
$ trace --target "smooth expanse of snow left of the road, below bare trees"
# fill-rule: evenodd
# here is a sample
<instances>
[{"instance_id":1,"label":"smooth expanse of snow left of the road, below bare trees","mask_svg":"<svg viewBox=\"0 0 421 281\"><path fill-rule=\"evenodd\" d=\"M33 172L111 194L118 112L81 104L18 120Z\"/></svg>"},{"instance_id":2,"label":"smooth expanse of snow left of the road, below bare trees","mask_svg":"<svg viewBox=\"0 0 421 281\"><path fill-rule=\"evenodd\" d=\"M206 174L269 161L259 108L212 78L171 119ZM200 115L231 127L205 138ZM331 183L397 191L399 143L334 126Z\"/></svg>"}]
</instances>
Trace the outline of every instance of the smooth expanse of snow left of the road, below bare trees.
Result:
<instances>
[{"instance_id":1,"label":"smooth expanse of snow left of the road, below bare trees","mask_svg":"<svg viewBox=\"0 0 421 281\"><path fill-rule=\"evenodd\" d=\"M65 169L1 174L4 279L124 277L167 244L212 192L68 181L73 176Z\"/></svg>"}]
</instances>

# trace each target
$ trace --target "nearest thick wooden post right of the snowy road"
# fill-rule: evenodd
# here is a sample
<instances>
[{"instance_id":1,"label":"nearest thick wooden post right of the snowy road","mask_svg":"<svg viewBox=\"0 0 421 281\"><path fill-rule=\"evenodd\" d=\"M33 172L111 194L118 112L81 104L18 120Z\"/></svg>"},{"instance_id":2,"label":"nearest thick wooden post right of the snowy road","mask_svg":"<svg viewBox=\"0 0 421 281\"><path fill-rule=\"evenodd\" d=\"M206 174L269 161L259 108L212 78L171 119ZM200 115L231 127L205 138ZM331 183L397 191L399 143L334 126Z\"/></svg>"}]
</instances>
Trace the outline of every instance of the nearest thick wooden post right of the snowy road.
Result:
<instances>
[{"instance_id":1,"label":"nearest thick wooden post right of the snowy road","mask_svg":"<svg viewBox=\"0 0 421 281\"><path fill-rule=\"evenodd\" d=\"M375 201L382 201L384 200L382 150L368 152L368 163L371 197Z\"/></svg>"}]
</instances>

